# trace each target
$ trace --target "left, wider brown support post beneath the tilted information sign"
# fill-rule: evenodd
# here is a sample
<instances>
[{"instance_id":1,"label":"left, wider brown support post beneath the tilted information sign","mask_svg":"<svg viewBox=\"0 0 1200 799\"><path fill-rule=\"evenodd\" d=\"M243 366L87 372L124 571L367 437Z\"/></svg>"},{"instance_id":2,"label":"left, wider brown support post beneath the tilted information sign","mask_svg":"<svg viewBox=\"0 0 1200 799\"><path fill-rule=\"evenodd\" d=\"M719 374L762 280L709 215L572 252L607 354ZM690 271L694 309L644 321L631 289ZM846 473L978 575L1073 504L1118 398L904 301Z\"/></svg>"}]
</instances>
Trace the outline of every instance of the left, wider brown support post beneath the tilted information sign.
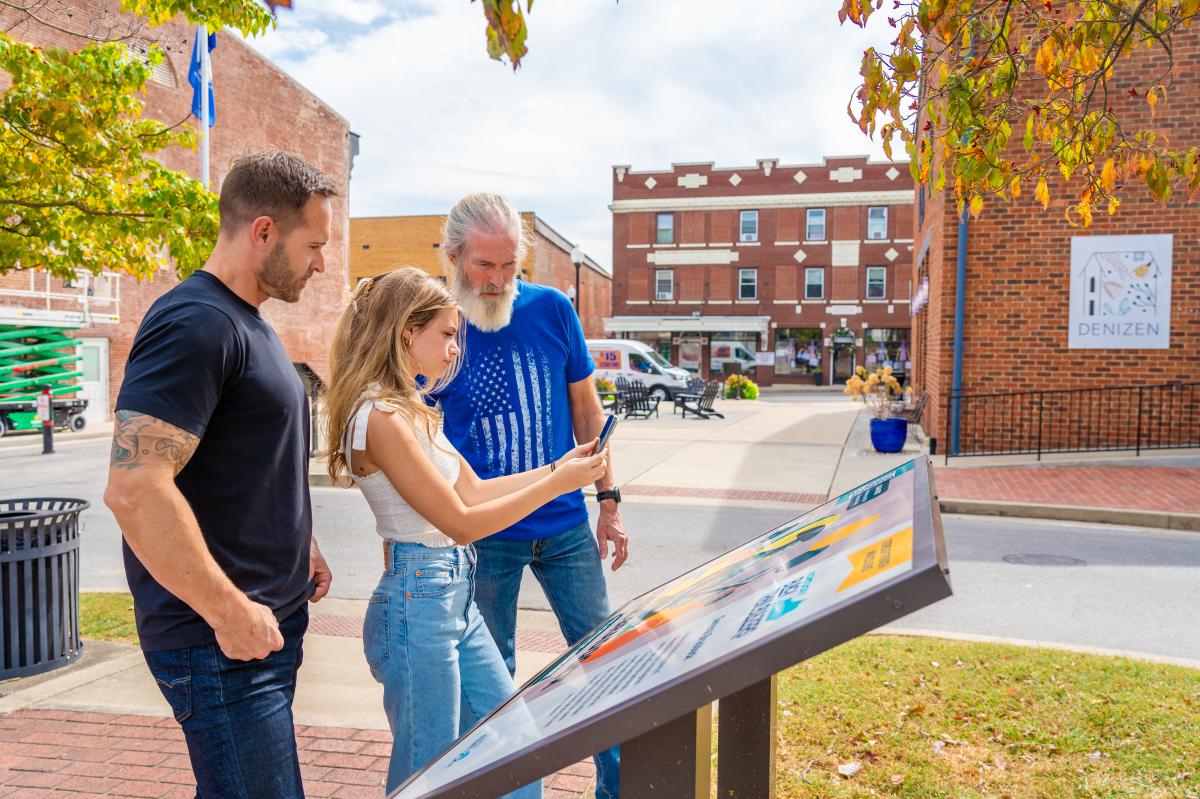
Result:
<instances>
[{"instance_id":1,"label":"left, wider brown support post beneath the tilted information sign","mask_svg":"<svg viewBox=\"0 0 1200 799\"><path fill-rule=\"evenodd\" d=\"M708 799L713 705L706 704L620 745L620 795Z\"/></svg>"}]
</instances>

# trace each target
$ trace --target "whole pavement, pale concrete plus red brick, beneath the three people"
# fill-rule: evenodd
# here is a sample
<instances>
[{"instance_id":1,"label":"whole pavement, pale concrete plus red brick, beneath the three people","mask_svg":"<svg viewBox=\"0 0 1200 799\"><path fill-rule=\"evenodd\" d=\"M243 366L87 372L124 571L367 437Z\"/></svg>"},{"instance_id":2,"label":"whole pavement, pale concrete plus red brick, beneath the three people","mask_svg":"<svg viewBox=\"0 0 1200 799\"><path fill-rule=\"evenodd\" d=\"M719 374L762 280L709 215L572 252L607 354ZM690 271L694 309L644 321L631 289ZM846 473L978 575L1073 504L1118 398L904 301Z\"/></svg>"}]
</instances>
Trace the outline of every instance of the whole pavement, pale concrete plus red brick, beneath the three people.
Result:
<instances>
[{"instance_id":1,"label":"whole pavement, pale concrete plus red brick, beneath the three people","mask_svg":"<svg viewBox=\"0 0 1200 799\"><path fill-rule=\"evenodd\" d=\"M384 795L391 734L383 690L362 657L364 601L310 606L294 704L296 740L310 797ZM521 611L517 683L566 644L548 613ZM0 683L0 798L196 795L179 725L136 647L86 643L68 668ZM592 761L544 781L546 799L594 789Z\"/></svg>"}]
</instances>

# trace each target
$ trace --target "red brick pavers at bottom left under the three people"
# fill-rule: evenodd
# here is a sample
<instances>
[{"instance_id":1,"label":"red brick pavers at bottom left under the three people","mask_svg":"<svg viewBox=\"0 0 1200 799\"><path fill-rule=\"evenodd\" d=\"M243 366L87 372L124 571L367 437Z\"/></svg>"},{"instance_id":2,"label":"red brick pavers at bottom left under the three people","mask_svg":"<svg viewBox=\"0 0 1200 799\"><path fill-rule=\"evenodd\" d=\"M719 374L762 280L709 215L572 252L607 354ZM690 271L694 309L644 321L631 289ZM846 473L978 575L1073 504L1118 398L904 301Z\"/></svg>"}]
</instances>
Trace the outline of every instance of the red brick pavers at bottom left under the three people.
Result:
<instances>
[{"instance_id":1,"label":"red brick pavers at bottom left under the three people","mask_svg":"<svg viewBox=\"0 0 1200 799\"><path fill-rule=\"evenodd\" d=\"M296 727L296 741L308 797L384 795L389 733ZM590 761L568 767L545 780L545 799L580 799L594 777ZM173 719L66 710L0 716L0 798L193 799L194 786Z\"/></svg>"}]
</instances>

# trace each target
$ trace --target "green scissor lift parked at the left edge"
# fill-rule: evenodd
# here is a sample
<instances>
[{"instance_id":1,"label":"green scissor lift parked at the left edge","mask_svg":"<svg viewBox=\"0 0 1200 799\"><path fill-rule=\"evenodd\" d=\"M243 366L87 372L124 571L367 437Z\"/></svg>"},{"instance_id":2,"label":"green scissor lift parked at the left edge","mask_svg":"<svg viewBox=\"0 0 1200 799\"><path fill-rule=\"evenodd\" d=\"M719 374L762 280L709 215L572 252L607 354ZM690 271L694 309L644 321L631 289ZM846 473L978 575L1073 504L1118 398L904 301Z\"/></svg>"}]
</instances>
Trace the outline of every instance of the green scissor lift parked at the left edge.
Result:
<instances>
[{"instance_id":1,"label":"green scissor lift parked at the left edge","mask_svg":"<svg viewBox=\"0 0 1200 799\"><path fill-rule=\"evenodd\" d=\"M54 397L54 426L84 428L88 401L62 398L79 391L78 346L62 328L0 325L0 435L41 427L37 397L47 385Z\"/></svg>"}]
</instances>

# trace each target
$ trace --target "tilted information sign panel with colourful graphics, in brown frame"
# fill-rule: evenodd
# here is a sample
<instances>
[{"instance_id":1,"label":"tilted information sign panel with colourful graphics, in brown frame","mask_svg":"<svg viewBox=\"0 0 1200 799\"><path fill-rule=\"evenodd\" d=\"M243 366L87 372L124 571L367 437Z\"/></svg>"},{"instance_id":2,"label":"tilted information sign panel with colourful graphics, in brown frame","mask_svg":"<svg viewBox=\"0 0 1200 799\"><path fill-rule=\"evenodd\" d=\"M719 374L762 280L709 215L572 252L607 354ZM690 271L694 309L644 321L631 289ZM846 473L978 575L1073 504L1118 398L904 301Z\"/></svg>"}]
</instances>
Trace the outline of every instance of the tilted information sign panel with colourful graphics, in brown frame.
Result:
<instances>
[{"instance_id":1,"label":"tilted information sign panel with colourful graphics, in brown frame","mask_svg":"<svg viewBox=\"0 0 1200 799\"><path fill-rule=\"evenodd\" d=\"M643 594L392 797L499 795L948 596L935 501L910 461Z\"/></svg>"}]
</instances>

